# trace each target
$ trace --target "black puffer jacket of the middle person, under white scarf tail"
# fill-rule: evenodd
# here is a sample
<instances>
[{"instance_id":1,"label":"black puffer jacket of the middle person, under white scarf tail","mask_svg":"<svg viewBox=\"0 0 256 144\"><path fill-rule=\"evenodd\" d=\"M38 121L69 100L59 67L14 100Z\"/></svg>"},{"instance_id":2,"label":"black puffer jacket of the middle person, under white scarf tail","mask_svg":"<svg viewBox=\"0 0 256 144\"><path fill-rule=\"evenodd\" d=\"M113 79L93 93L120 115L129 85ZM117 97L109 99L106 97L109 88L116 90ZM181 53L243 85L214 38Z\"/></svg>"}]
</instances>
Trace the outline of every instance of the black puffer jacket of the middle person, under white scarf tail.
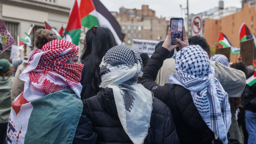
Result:
<instances>
[{"instance_id":1,"label":"black puffer jacket of the middle person, under white scarf tail","mask_svg":"<svg viewBox=\"0 0 256 144\"><path fill-rule=\"evenodd\" d=\"M132 143L118 118L112 89L103 89L96 96L84 100L87 117L98 134L98 143ZM179 143L170 109L153 98L150 127L144 143Z\"/></svg>"}]
</instances>

